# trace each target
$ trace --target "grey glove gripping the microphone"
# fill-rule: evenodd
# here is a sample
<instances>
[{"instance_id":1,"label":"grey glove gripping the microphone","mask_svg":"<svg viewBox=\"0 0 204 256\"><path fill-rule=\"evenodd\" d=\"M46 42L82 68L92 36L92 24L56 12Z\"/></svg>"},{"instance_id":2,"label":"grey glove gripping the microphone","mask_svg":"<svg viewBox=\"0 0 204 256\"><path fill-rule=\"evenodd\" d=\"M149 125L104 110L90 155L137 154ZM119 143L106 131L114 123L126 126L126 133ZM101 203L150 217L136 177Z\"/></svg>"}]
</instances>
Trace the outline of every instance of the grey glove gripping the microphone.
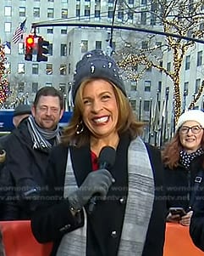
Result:
<instances>
[{"instance_id":1,"label":"grey glove gripping the microphone","mask_svg":"<svg viewBox=\"0 0 204 256\"><path fill-rule=\"evenodd\" d=\"M80 185L80 188L68 196L71 209L80 210L95 194L100 195L100 199L105 200L113 182L113 176L107 169L91 172Z\"/></svg>"}]
</instances>

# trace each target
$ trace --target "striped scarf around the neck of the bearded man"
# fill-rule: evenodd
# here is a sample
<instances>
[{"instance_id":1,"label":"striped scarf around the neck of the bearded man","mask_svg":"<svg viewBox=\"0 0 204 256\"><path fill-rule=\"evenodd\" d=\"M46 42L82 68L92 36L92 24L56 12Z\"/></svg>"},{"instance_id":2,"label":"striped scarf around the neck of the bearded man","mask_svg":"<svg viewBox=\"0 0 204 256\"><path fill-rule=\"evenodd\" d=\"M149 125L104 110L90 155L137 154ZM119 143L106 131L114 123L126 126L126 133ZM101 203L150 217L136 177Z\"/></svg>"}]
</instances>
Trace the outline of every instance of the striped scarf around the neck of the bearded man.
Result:
<instances>
[{"instance_id":1,"label":"striped scarf around the neck of the bearded man","mask_svg":"<svg viewBox=\"0 0 204 256\"><path fill-rule=\"evenodd\" d=\"M54 145L60 141L59 127L53 131L40 128L32 116L28 117L28 130L33 141L33 149L48 152L52 148L49 139L54 139Z\"/></svg>"}]
</instances>

